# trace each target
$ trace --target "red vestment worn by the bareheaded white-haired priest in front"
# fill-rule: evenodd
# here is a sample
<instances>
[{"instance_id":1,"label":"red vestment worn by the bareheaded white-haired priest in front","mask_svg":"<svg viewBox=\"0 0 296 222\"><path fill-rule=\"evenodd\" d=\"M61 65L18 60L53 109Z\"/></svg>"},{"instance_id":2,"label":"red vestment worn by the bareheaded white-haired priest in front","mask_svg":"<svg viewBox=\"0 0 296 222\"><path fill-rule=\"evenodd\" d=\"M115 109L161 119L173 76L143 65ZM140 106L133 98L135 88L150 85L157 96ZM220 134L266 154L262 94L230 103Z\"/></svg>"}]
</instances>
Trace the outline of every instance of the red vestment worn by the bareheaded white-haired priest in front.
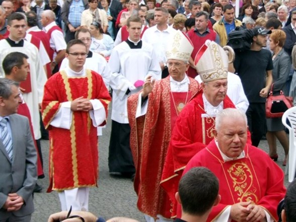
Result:
<instances>
[{"instance_id":1,"label":"red vestment worn by the bareheaded white-haired priest in front","mask_svg":"<svg viewBox=\"0 0 296 222\"><path fill-rule=\"evenodd\" d=\"M229 205L247 201L260 205L274 221L278 220L276 208L286 193L284 174L263 150L247 144L244 151L245 157L224 161L213 140L188 162L184 174L194 167L206 167L219 180L221 201L212 208L207 221L216 219Z\"/></svg>"}]
</instances>

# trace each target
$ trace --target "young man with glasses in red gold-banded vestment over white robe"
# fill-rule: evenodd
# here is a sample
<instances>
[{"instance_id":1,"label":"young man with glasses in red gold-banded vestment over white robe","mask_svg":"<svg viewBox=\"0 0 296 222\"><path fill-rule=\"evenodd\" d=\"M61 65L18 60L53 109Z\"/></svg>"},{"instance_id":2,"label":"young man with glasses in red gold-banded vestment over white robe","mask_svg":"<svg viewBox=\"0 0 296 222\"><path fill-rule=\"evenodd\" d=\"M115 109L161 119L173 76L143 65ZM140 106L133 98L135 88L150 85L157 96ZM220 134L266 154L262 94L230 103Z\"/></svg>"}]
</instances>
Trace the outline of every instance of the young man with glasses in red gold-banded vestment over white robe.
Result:
<instances>
[{"instance_id":1,"label":"young man with glasses in red gold-banded vestment over white robe","mask_svg":"<svg viewBox=\"0 0 296 222\"><path fill-rule=\"evenodd\" d=\"M42 120L49 131L50 185L59 191L62 210L88 210L89 187L97 186L97 127L106 124L111 100L102 77L85 70L87 48L69 41L69 66L44 86Z\"/></svg>"}]
</instances>

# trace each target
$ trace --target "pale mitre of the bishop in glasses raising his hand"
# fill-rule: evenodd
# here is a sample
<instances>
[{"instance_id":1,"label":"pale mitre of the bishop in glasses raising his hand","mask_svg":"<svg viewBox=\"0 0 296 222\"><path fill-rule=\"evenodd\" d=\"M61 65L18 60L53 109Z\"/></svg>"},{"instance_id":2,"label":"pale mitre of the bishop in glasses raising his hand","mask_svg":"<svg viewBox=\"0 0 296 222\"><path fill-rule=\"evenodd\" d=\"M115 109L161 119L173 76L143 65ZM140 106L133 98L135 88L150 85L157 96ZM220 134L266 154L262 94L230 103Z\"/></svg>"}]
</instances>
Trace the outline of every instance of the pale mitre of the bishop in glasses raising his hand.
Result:
<instances>
[{"instance_id":1,"label":"pale mitre of the bishop in glasses raising his hand","mask_svg":"<svg viewBox=\"0 0 296 222\"><path fill-rule=\"evenodd\" d=\"M193 51L193 44L187 35L178 30L173 34L166 45L167 60L181 60L188 62Z\"/></svg>"}]
</instances>

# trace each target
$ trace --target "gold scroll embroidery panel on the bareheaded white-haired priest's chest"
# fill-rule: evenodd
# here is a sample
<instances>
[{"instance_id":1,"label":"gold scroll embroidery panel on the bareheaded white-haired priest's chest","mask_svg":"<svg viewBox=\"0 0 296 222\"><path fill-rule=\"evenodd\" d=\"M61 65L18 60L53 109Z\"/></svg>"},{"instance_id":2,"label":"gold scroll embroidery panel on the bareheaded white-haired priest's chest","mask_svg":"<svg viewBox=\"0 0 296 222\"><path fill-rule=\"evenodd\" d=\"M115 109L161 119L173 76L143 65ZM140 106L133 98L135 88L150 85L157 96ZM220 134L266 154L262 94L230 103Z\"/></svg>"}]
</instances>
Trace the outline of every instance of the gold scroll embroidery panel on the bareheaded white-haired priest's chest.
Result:
<instances>
[{"instance_id":1,"label":"gold scroll embroidery panel on the bareheaded white-haired priest's chest","mask_svg":"<svg viewBox=\"0 0 296 222\"><path fill-rule=\"evenodd\" d=\"M230 178L233 181L234 192L237 193L239 202L252 201L258 203L257 189L253 185L254 176L245 162L234 163L229 170Z\"/></svg>"}]
</instances>

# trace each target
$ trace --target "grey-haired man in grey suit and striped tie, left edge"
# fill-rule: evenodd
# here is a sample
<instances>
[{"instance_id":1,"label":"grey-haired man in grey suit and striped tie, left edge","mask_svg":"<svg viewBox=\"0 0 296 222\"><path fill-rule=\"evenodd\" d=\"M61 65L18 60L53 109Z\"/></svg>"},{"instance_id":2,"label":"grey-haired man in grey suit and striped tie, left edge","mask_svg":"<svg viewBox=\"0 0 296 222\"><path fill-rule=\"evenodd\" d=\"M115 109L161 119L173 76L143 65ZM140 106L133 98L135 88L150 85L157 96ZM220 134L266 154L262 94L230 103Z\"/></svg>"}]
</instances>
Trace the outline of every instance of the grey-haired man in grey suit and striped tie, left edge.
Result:
<instances>
[{"instance_id":1,"label":"grey-haired man in grey suit and striped tie, left edge","mask_svg":"<svg viewBox=\"0 0 296 222\"><path fill-rule=\"evenodd\" d=\"M0 79L0 222L31 220L37 153L29 121L17 113L19 84Z\"/></svg>"}]
</instances>

